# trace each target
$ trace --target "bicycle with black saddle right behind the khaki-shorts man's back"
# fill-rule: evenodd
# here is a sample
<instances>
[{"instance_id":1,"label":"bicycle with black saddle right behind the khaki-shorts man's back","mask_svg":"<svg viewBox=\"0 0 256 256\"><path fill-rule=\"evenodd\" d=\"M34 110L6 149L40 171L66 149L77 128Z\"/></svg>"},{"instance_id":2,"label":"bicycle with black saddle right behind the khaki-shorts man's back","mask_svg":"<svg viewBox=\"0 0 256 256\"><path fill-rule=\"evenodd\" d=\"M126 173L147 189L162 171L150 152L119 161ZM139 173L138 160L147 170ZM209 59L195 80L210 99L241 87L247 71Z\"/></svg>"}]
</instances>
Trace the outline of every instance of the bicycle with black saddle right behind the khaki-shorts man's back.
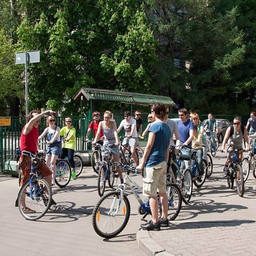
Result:
<instances>
[{"instance_id":1,"label":"bicycle with black saddle right behind the khaki-shorts man's back","mask_svg":"<svg viewBox=\"0 0 256 256\"><path fill-rule=\"evenodd\" d=\"M177 147L180 147L180 146L186 147L186 145L182 145L182 144ZM167 180L166 181L167 183L169 182L175 183L180 188L181 194L183 195L185 200L189 202L192 196L192 189L193 189L192 175L188 168L183 171L182 161L189 160L190 157L187 155L178 155L177 156L178 162L175 162L173 160L173 158L176 156L174 149L175 149L174 146L170 146L169 158L167 162ZM178 171L177 178L174 175L172 166Z\"/></svg>"}]
</instances>

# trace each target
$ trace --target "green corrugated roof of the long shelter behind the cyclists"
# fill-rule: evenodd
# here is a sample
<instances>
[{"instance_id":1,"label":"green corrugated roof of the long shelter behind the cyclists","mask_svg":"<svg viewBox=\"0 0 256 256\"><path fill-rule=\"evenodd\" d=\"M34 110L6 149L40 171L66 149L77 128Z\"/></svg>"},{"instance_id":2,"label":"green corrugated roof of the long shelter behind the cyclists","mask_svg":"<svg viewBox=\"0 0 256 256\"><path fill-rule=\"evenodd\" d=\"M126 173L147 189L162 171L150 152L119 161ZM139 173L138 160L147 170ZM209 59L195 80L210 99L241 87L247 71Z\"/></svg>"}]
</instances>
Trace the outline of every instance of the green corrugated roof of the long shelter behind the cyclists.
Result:
<instances>
[{"instance_id":1,"label":"green corrugated roof of the long shelter behind the cyclists","mask_svg":"<svg viewBox=\"0 0 256 256\"><path fill-rule=\"evenodd\" d=\"M142 94L134 92L120 92L95 88L81 88L73 97L74 100L81 100L84 96L86 100L97 101L117 101L121 103L136 104L136 105L152 105L161 102L166 106L174 106L175 103L170 97Z\"/></svg>"}]
</instances>

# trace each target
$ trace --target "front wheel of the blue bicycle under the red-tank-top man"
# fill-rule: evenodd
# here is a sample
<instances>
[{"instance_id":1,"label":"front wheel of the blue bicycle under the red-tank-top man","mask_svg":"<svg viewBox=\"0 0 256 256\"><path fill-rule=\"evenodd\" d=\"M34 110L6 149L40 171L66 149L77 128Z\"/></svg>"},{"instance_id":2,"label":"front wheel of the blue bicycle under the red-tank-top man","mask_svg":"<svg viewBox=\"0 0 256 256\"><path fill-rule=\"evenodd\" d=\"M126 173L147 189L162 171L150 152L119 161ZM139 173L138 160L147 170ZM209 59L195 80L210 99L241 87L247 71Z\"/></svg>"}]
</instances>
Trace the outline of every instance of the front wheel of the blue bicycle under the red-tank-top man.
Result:
<instances>
[{"instance_id":1,"label":"front wheel of the blue bicycle under the red-tank-top man","mask_svg":"<svg viewBox=\"0 0 256 256\"><path fill-rule=\"evenodd\" d=\"M38 220L50 208L52 193L49 184L42 178L36 177L31 185L30 189L28 180L21 187L18 196L18 206L21 215L25 219Z\"/></svg>"}]
</instances>

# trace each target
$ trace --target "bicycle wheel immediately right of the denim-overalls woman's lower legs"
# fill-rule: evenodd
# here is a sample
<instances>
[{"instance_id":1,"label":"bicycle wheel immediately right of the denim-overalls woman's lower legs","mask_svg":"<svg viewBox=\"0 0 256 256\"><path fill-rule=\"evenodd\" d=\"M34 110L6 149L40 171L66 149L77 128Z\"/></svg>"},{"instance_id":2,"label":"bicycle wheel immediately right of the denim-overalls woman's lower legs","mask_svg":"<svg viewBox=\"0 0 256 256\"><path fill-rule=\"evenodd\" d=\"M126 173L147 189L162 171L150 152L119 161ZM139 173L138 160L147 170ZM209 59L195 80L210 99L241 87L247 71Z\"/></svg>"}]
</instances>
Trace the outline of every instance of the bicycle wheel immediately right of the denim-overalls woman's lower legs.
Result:
<instances>
[{"instance_id":1,"label":"bicycle wheel immediately right of the denim-overalls woman's lower legs","mask_svg":"<svg viewBox=\"0 0 256 256\"><path fill-rule=\"evenodd\" d=\"M60 188L68 185L71 178L70 165L66 160L60 159L56 162L55 183Z\"/></svg>"}]
</instances>

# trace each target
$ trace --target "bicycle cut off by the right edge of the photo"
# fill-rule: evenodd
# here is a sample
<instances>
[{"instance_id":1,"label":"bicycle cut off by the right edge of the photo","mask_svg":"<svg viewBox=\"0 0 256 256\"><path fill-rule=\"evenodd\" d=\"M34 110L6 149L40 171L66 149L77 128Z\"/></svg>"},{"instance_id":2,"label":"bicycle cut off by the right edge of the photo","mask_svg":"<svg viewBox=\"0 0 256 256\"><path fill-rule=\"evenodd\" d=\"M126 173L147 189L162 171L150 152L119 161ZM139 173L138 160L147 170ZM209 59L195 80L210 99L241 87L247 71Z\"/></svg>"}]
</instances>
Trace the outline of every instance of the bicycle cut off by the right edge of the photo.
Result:
<instances>
[{"instance_id":1,"label":"bicycle cut off by the right edge of the photo","mask_svg":"<svg viewBox=\"0 0 256 256\"><path fill-rule=\"evenodd\" d=\"M256 178L256 154L254 153L255 139L250 140L250 151L247 156L243 158L241 167L244 175L244 182L249 177L249 172L252 170L253 177Z\"/></svg>"}]
</instances>

